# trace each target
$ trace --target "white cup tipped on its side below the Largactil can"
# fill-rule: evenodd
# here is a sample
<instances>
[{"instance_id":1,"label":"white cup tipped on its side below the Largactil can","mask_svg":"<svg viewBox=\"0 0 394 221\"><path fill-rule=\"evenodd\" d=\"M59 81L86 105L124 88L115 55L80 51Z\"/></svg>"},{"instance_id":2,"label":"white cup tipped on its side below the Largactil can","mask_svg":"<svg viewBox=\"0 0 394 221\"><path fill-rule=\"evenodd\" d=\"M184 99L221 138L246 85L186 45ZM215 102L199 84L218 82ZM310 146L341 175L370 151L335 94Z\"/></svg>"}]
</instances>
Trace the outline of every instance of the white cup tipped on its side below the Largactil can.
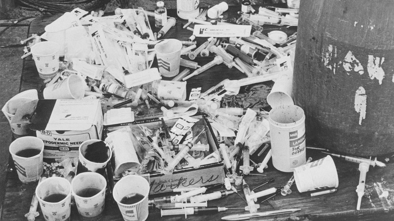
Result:
<instances>
[{"instance_id":1,"label":"white cup tipped on its side below the Largactil can","mask_svg":"<svg viewBox=\"0 0 394 221\"><path fill-rule=\"evenodd\" d=\"M334 160L328 155L294 169L294 179L300 193L338 187Z\"/></svg>"}]
</instances>

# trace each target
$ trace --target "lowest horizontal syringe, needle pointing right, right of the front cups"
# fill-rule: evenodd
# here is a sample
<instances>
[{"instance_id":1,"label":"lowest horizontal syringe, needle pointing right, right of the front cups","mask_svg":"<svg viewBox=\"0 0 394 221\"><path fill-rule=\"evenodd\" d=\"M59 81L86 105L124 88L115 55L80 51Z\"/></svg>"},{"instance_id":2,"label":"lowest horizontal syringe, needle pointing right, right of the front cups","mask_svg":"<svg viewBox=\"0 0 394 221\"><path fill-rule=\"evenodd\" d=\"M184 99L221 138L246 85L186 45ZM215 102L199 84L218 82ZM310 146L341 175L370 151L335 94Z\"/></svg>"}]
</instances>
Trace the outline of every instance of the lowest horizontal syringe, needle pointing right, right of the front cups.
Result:
<instances>
[{"instance_id":1,"label":"lowest horizontal syringe, needle pointing right, right of the front cups","mask_svg":"<svg viewBox=\"0 0 394 221\"><path fill-rule=\"evenodd\" d=\"M220 211L226 211L227 209L243 209L243 208L228 208L219 206L209 206L209 207L187 207L183 209L162 209L161 215L192 215L192 214L212 214Z\"/></svg>"}]
</instances>

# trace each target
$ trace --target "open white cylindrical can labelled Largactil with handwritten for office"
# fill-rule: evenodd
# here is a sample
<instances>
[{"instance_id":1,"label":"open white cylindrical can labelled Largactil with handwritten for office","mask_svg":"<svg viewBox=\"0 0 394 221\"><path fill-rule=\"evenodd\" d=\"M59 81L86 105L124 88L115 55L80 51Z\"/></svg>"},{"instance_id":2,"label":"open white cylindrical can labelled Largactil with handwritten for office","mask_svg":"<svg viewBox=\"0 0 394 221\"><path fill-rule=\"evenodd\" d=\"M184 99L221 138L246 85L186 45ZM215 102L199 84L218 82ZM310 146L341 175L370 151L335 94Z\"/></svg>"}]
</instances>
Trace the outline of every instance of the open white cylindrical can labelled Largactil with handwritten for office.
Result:
<instances>
[{"instance_id":1,"label":"open white cylindrical can labelled Largactil with handwritten for office","mask_svg":"<svg viewBox=\"0 0 394 221\"><path fill-rule=\"evenodd\" d=\"M272 164L282 172L292 172L307 160L305 115L296 105L280 105L269 113Z\"/></svg>"}]
</instances>

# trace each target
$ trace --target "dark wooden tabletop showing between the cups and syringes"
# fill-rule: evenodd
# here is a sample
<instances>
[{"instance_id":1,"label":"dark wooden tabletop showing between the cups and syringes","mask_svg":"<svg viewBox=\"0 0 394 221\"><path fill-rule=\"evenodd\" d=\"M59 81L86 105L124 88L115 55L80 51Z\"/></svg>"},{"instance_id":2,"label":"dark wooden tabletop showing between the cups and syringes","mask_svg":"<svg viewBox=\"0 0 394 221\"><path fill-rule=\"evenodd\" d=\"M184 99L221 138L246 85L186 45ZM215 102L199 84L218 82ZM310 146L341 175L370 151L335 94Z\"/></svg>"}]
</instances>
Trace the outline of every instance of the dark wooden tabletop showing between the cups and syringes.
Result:
<instances>
[{"instance_id":1,"label":"dark wooden tabletop showing between the cups and syringes","mask_svg":"<svg viewBox=\"0 0 394 221\"><path fill-rule=\"evenodd\" d=\"M229 13L234 13L238 7L230 7ZM229 13L224 16L229 16ZM169 10L169 15L175 16L174 10ZM30 27L31 33L39 33L43 28L51 23L56 17L42 17L34 20ZM177 38L186 40L191 32L182 29L181 22L178 20L176 27L173 27L166 35L166 38ZM184 23L184 21L182 22ZM300 24L302 25L302 24ZM278 28L276 28L278 29ZM286 28L280 28L286 31ZM266 29L268 32L270 29ZM287 30L289 31L289 30ZM200 44L204 39L198 38ZM196 61L200 65L204 65L211 61L213 57L201 58ZM155 65L155 64L154 64ZM208 90L223 79L241 79L245 76L235 68L228 69L224 65L218 65L209 71L193 77L188 81L188 90L191 88L202 87L202 92ZM34 62L31 57L24 60L23 71L21 77L21 91L28 89L40 89L42 80L38 77ZM258 152L258 151L257 151ZM307 150L307 155L312 156L314 160L320 159L325 154L316 150ZM255 156L252 158L256 159ZM262 158L257 158L262 161ZM358 164L342 161L334 158L337 173L339 177L339 187L337 193L311 197L310 193L299 193L295 185L292 186L292 193L287 196L276 196L260 204L259 211L267 211L283 208L301 208L299 212L287 214L261 217L264 220L311 220L311 219L358 219L358 220L393 220L394 218L394 164L388 164L386 168L370 168L367 179L367 194L369 198L363 197L361 210L356 211L357 193L356 186L359 181ZM257 172L255 172L257 173ZM275 182L257 189L262 191L270 187L285 185L291 177L291 173L282 173L273 168L271 161L269 168L264 172L263 176L245 176L245 181L251 188L257 187L259 184L275 178ZM379 198L374 185L381 185L389 191L387 199ZM24 214L28 212L31 197L35 190L36 183L22 184L17 177L12 160L10 161L9 173L7 175L6 194L2 211L2 220L25 220ZM241 187L238 186L238 189ZM242 196L242 191L239 192ZM226 207L244 207L247 204L236 194L231 194L223 199L213 200L208 203L209 206L226 206ZM38 211L40 211L38 209ZM244 213L243 210L227 210L215 215L189 215L188 220L220 220L222 216ZM72 207L72 220L78 219L78 212L75 206ZM177 216L160 216L160 210L150 210L147 220L184 220L183 215ZM36 217L36 220L44 220L42 214ZM118 206L111 199L107 198L104 220L123 220L119 212ZM252 219L257 220L257 219Z\"/></svg>"}]
</instances>

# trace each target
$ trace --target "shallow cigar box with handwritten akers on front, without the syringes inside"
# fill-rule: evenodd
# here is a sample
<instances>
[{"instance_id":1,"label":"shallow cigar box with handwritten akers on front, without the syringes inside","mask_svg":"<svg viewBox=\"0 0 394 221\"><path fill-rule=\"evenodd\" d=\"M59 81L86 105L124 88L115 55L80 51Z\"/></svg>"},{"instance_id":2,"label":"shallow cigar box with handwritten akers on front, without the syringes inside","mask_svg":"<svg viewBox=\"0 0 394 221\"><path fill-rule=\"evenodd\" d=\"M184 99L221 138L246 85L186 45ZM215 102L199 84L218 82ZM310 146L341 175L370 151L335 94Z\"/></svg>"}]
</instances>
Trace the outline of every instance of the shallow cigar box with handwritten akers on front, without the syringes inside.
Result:
<instances>
[{"instance_id":1,"label":"shallow cigar box with handwritten akers on front, without the syringes inside","mask_svg":"<svg viewBox=\"0 0 394 221\"><path fill-rule=\"evenodd\" d=\"M206 129L206 138L207 142L210 146L209 153L218 150L219 144L217 143L216 138L213 136L212 127L208 122L208 119L202 116L195 117L198 119L202 119L203 125ZM178 119L172 119L166 121L167 126L173 126ZM159 119L151 119L146 120L145 122L150 123L142 123L140 126L145 126L149 129L157 129L160 120ZM133 127L138 127L135 124L127 125L126 127L130 127L133 131ZM111 132L120 127L116 128L108 128L105 130L106 132ZM133 143L138 142L135 138L132 138ZM138 145L138 144L135 144ZM150 183L151 191L150 195L172 192L174 188L191 188L191 187L203 187L210 186L224 182L225 174L223 168L223 162L210 163L206 165L202 165L198 169L194 168L184 168L180 170L174 170L172 173L152 173L143 175ZM119 180L119 178L115 178L115 181Z\"/></svg>"}]
</instances>

